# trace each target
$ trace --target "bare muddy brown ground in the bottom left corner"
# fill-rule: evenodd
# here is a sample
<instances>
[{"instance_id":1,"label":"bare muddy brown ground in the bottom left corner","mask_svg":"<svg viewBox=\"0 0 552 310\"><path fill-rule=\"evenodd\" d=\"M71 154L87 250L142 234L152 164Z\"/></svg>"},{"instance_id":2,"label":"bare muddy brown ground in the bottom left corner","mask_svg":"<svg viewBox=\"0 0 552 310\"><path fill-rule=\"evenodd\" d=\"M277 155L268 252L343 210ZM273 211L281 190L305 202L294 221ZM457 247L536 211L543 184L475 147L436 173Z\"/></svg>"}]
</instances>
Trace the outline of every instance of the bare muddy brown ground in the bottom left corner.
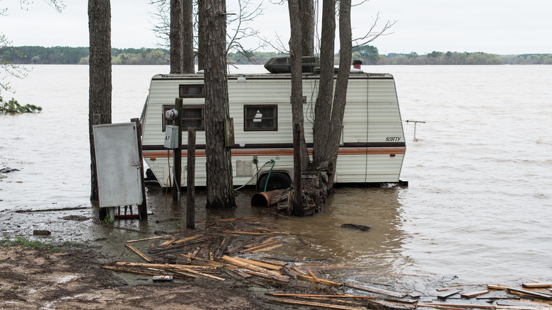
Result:
<instances>
[{"instance_id":1,"label":"bare muddy brown ground in the bottom left corner","mask_svg":"<svg viewBox=\"0 0 552 310\"><path fill-rule=\"evenodd\" d=\"M0 309L292 309L270 304L239 282L173 280L128 285L100 268L91 248L51 253L8 246L0 252Z\"/></svg>"}]
</instances>

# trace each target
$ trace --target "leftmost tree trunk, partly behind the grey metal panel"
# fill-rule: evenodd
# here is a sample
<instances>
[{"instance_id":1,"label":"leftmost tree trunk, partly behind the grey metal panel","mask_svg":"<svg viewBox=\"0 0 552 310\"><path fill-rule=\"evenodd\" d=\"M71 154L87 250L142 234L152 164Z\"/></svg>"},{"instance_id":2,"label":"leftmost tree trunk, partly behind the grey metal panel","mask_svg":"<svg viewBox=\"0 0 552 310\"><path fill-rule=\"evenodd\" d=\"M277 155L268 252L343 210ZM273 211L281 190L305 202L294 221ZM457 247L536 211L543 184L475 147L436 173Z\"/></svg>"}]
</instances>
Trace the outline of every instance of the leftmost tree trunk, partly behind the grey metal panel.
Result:
<instances>
[{"instance_id":1,"label":"leftmost tree trunk, partly behind the grey metal panel","mask_svg":"<svg viewBox=\"0 0 552 310\"><path fill-rule=\"evenodd\" d=\"M90 135L91 194L98 201L98 174L92 131L93 115L101 124L111 123L111 6L109 0L88 1L90 33L90 86L88 90L88 133Z\"/></svg>"}]
</instances>

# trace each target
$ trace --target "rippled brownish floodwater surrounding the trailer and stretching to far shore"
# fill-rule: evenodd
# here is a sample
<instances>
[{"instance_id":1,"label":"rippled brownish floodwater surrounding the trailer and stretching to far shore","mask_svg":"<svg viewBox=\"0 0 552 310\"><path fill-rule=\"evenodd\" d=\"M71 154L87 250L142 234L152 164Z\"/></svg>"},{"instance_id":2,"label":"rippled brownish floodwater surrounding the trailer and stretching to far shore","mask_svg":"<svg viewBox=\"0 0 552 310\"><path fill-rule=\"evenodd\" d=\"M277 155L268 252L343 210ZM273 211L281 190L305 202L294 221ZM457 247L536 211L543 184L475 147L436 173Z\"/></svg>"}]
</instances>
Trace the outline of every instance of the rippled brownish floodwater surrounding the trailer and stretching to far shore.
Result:
<instances>
[{"instance_id":1,"label":"rippled brownish floodwater surrounding the trailer and stretching to far shore","mask_svg":"<svg viewBox=\"0 0 552 310\"><path fill-rule=\"evenodd\" d=\"M425 122L416 128L417 140L414 125L403 123L401 180L409 187L338 188L319 214L270 219L276 229L313 243L290 242L281 252L374 273L457 275L466 282L551 280L552 66L363 69L393 74L403 120ZM139 117L151 76L166 72L166 66L113 67L113 122ZM0 115L0 168L20 170L0 174L4 236L48 229L52 241L128 240L185 222L185 201L173 203L160 188L147 189L155 212L147 222L115 222L127 230L105 229L93 209L16 213L91 207L88 67L38 65L12 86L20 103L43 110ZM252 194L239 192L236 210L213 214L202 207L200 191L196 220L254 216ZM372 229L340 229L344 223ZM124 251L120 246L115 252Z\"/></svg>"}]
</instances>

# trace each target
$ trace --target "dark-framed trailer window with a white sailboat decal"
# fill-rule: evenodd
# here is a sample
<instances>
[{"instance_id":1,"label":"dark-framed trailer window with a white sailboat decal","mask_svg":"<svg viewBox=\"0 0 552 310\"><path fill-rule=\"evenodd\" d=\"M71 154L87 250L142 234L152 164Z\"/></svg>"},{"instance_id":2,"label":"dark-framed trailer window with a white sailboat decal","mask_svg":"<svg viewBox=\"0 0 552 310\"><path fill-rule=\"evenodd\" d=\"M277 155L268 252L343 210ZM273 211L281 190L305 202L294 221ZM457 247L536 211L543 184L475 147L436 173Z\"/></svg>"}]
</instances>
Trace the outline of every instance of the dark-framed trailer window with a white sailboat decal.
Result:
<instances>
[{"instance_id":1,"label":"dark-framed trailer window with a white sailboat decal","mask_svg":"<svg viewBox=\"0 0 552 310\"><path fill-rule=\"evenodd\" d=\"M277 105L243 105L243 130L278 130Z\"/></svg>"}]
</instances>

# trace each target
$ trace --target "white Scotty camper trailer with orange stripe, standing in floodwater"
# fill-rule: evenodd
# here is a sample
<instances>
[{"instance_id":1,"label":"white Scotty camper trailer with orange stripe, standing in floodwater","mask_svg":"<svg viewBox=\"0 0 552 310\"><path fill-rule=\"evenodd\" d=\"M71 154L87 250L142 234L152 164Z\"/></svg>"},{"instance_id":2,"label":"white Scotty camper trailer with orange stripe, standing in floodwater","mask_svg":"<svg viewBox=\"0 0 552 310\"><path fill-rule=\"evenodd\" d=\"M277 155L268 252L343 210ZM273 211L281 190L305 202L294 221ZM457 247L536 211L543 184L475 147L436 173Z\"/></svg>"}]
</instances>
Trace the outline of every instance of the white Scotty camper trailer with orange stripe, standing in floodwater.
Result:
<instances>
[{"instance_id":1,"label":"white Scotty camper trailer with orange stripe, standing in floodwater","mask_svg":"<svg viewBox=\"0 0 552 310\"><path fill-rule=\"evenodd\" d=\"M314 103L319 75L303 75L304 130L311 151ZM229 74L234 185L287 188L293 177L291 77L289 74ZM205 186L205 97L203 74L159 74L151 79L142 113L144 159L163 187L173 176L172 151L163 147L164 117L183 98L182 141L197 129L195 184ZM406 143L391 74L351 72L335 183L397 183ZM186 145L182 147L181 185L185 185Z\"/></svg>"}]
</instances>

